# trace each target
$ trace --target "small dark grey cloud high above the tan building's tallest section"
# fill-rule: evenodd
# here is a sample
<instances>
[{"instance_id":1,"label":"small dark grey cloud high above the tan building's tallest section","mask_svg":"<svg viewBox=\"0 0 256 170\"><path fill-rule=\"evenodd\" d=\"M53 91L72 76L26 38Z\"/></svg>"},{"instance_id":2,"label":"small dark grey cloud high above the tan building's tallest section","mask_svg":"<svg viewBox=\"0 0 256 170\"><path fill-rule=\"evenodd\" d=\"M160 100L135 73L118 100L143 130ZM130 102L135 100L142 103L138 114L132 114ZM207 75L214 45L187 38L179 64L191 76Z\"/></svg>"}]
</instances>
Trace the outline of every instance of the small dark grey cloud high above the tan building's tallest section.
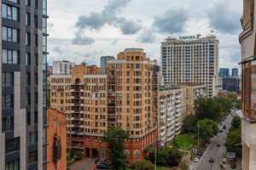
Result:
<instances>
[{"instance_id":1,"label":"small dark grey cloud high above the tan building's tallest section","mask_svg":"<svg viewBox=\"0 0 256 170\"><path fill-rule=\"evenodd\" d=\"M142 29L140 21L137 20L125 20L125 18L120 19L119 21L120 29L123 34L135 34L137 31Z\"/></svg>"}]
</instances>

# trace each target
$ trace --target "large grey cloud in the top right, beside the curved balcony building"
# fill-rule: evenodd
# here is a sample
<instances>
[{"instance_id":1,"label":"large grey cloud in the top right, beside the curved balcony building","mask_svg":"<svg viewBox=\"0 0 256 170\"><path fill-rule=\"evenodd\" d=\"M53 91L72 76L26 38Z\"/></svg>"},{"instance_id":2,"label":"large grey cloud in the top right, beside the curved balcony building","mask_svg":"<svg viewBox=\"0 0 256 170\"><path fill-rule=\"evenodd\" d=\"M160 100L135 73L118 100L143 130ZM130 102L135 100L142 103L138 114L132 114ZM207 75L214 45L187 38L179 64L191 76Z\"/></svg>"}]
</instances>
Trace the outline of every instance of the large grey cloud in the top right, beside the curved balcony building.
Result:
<instances>
[{"instance_id":1,"label":"large grey cloud in the top right, beside the curved balcony building","mask_svg":"<svg viewBox=\"0 0 256 170\"><path fill-rule=\"evenodd\" d=\"M234 8L233 1L215 1L207 10L210 27L221 33L235 33L241 30L241 10ZM234 22L236 20L236 22Z\"/></svg>"}]
</instances>

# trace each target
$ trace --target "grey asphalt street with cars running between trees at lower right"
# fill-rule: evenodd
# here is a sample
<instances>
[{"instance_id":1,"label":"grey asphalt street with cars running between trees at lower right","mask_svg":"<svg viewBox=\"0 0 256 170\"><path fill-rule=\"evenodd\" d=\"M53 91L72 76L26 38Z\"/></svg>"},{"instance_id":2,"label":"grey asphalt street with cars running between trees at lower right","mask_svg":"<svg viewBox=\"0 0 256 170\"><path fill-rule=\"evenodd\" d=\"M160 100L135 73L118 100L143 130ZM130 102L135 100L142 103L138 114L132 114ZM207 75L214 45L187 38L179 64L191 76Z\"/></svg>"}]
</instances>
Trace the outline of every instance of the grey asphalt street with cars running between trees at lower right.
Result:
<instances>
[{"instance_id":1,"label":"grey asphalt street with cars running between trees at lower right","mask_svg":"<svg viewBox=\"0 0 256 170\"><path fill-rule=\"evenodd\" d=\"M224 146L224 139L227 137L228 129L230 128L233 117L231 114L227 116L226 120L222 123L226 125L227 129L223 133L218 133L215 137L211 139L211 143L208 145L207 150L204 152L203 156L198 162L193 162L192 165L196 170L216 170L220 169L219 165L222 164L224 155L226 154L226 148ZM221 129L222 126L219 126ZM200 135L200 134L199 134ZM220 141L220 146L217 146L218 141ZM210 163L210 158L214 159L213 163Z\"/></svg>"}]
</instances>

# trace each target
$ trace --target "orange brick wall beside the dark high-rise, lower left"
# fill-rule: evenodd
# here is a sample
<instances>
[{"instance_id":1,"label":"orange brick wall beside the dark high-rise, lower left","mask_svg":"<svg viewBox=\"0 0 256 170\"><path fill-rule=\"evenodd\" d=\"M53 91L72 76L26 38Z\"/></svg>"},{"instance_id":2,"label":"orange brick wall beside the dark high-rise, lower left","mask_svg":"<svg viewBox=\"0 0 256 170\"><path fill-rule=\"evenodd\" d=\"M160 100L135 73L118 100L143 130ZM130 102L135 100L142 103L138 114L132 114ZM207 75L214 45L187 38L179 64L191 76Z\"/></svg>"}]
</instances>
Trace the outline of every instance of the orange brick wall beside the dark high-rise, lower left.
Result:
<instances>
[{"instance_id":1,"label":"orange brick wall beside the dark high-rise, lower left","mask_svg":"<svg viewBox=\"0 0 256 170\"><path fill-rule=\"evenodd\" d=\"M66 115L49 108L47 110L47 125L47 169L67 169ZM59 146L59 141L61 147ZM57 152L55 154L53 154L53 147L55 147L55 152ZM61 150L61 156L59 156L59 150Z\"/></svg>"}]
</instances>

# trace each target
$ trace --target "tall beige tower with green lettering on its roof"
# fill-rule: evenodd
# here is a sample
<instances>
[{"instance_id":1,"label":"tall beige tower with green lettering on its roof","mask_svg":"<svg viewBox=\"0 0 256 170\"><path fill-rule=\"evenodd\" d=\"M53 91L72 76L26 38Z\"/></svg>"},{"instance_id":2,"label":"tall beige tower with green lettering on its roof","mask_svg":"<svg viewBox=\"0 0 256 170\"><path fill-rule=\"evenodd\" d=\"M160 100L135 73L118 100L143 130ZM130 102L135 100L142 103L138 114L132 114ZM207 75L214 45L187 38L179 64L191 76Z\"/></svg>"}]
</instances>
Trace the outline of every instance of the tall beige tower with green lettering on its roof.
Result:
<instances>
[{"instance_id":1,"label":"tall beige tower with green lettering on its roof","mask_svg":"<svg viewBox=\"0 0 256 170\"><path fill-rule=\"evenodd\" d=\"M163 85L207 84L208 96L216 96L218 85L218 39L207 37L168 37L161 42Z\"/></svg>"}]
</instances>

